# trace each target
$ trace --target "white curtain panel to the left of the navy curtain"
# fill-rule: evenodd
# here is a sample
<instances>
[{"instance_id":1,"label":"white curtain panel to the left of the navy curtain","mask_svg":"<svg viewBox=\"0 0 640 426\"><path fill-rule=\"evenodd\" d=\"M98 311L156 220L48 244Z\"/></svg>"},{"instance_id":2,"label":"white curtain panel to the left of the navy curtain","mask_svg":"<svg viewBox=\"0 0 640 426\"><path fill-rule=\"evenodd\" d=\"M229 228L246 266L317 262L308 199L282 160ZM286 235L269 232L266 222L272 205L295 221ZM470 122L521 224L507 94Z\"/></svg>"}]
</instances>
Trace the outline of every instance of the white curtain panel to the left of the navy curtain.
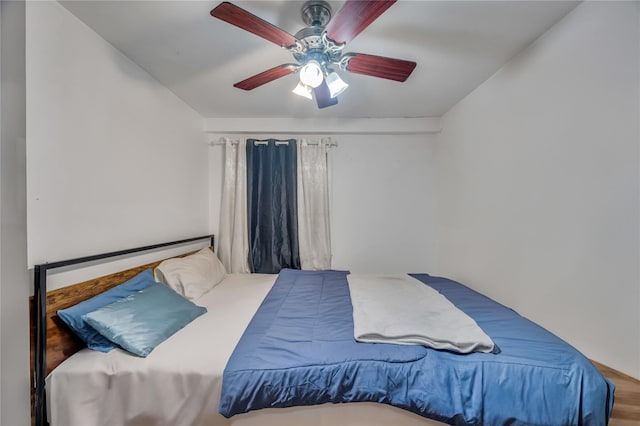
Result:
<instances>
[{"instance_id":1,"label":"white curtain panel to the left of the navy curtain","mask_svg":"<svg viewBox=\"0 0 640 426\"><path fill-rule=\"evenodd\" d=\"M218 255L228 273L248 273L247 144L224 140L224 186Z\"/></svg>"}]
</instances>

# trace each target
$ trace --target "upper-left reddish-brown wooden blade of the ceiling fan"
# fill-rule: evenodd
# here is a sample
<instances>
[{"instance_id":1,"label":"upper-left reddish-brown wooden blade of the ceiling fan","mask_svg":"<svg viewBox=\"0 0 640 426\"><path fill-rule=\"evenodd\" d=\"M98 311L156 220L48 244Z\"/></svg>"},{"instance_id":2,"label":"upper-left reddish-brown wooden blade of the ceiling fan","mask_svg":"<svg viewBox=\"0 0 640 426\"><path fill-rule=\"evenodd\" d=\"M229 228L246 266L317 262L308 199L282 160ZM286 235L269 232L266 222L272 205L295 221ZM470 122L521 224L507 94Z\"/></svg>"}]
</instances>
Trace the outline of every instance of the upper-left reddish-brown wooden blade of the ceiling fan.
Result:
<instances>
[{"instance_id":1,"label":"upper-left reddish-brown wooden blade of the ceiling fan","mask_svg":"<svg viewBox=\"0 0 640 426\"><path fill-rule=\"evenodd\" d=\"M297 39L288 32L232 3L226 1L220 3L211 10L211 16L249 31L280 47L288 48L296 45Z\"/></svg>"}]
</instances>

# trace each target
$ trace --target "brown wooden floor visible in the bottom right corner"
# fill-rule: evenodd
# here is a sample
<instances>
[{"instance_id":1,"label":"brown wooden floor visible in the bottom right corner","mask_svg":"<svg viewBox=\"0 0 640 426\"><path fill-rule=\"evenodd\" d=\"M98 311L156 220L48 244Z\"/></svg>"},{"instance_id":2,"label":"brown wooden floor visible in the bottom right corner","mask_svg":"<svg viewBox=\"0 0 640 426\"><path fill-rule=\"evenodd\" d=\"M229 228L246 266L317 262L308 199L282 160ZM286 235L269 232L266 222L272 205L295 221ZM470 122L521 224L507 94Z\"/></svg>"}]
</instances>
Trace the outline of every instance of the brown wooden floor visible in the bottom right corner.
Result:
<instances>
[{"instance_id":1,"label":"brown wooden floor visible in the bottom right corner","mask_svg":"<svg viewBox=\"0 0 640 426\"><path fill-rule=\"evenodd\" d=\"M640 426L640 381L597 362L593 364L616 385L609 426Z\"/></svg>"}]
</instances>

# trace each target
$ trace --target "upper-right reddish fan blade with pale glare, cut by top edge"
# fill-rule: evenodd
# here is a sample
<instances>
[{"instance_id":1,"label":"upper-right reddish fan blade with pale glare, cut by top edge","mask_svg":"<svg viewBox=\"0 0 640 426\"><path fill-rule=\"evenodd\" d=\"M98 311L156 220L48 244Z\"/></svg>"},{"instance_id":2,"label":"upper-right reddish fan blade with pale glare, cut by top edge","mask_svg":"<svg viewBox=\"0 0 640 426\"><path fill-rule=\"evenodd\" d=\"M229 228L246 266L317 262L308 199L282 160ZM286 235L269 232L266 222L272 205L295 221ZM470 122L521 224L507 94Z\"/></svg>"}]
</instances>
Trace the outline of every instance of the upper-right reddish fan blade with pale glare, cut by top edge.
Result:
<instances>
[{"instance_id":1,"label":"upper-right reddish fan blade with pale glare, cut by top edge","mask_svg":"<svg viewBox=\"0 0 640 426\"><path fill-rule=\"evenodd\" d=\"M327 36L337 44L348 43L397 0L347 0L327 24Z\"/></svg>"}]
</instances>

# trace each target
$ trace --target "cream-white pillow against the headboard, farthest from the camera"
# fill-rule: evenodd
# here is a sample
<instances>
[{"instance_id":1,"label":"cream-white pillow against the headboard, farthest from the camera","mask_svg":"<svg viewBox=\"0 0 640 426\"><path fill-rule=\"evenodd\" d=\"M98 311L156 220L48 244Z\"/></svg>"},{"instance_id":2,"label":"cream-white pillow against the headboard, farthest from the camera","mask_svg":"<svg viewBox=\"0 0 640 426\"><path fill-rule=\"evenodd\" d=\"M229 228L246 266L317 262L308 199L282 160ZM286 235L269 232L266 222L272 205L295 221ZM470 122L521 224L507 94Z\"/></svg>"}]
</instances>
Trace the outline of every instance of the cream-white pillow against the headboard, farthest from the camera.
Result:
<instances>
[{"instance_id":1,"label":"cream-white pillow against the headboard, farthest from the camera","mask_svg":"<svg viewBox=\"0 0 640 426\"><path fill-rule=\"evenodd\" d=\"M189 300L211 290L226 274L224 265L209 248L186 257L167 259L154 272L156 281L168 285Z\"/></svg>"}]
</instances>

